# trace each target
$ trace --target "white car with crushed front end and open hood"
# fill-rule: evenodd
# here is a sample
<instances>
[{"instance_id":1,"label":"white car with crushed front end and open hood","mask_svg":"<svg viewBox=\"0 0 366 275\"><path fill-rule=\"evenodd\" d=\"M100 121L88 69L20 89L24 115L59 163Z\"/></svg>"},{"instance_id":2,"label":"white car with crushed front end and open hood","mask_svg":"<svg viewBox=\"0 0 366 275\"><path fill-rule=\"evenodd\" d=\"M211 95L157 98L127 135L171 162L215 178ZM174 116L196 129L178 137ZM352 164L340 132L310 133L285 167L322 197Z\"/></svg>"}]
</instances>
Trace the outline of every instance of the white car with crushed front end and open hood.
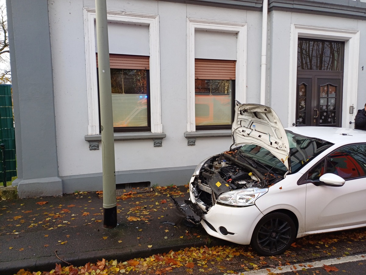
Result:
<instances>
[{"instance_id":1,"label":"white car with crushed front end and open hood","mask_svg":"<svg viewBox=\"0 0 366 275\"><path fill-rule=\"evenodd\" d=\"M190 199L175 201L209 235L285 252L295 238L366 227L366 132L284 129L276 113L236 103L234 144L202 161Z\"/></svg>"}]
</instances>

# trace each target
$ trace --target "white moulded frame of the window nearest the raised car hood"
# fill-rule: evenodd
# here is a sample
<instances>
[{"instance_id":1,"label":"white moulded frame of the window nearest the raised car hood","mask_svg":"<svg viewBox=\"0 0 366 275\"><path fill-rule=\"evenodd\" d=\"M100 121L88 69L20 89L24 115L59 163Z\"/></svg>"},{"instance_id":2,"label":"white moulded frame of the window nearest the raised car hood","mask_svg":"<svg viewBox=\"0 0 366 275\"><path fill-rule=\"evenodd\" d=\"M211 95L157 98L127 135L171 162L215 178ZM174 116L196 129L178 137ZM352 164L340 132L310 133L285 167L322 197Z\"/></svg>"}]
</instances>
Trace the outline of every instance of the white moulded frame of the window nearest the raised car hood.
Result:
<instances>
[{"instance_id":1,"label":"white moulded frame of the window nearest the raised car hood","mask_svg":"<svg viewBox=\"0 0 366 275\"><path fill-rule=\"evenodd\" d=\"M240 103L245 103L246 101L247 24L187 18L187 132L196 131L194 92L195 30L237 33L238 42L236 45L237 60L235 67L235 99Z\"/></svg>"}]
</instances>

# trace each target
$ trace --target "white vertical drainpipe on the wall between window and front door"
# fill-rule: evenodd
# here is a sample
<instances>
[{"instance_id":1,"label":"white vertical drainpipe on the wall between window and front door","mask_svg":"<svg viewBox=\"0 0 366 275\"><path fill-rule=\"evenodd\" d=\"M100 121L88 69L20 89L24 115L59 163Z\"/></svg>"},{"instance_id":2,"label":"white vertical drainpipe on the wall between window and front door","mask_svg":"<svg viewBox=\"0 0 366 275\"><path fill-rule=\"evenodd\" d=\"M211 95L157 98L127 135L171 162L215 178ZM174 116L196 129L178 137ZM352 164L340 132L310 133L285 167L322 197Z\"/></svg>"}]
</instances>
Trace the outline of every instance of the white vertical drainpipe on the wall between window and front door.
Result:
<instances>
[{"instance_id":1,"label":"white vertical drainpipe on the wall between window and front door","mask_svg":"<svg viewBox=\"0 0 366 275\"><path fill-rule=\"evenodd\" d=\"M268 14L268 0L263 0L262 59L261 59L261 104L262 105L265 105L265 103L266 103L267 14Z\"/></svg>"}]
</instances>

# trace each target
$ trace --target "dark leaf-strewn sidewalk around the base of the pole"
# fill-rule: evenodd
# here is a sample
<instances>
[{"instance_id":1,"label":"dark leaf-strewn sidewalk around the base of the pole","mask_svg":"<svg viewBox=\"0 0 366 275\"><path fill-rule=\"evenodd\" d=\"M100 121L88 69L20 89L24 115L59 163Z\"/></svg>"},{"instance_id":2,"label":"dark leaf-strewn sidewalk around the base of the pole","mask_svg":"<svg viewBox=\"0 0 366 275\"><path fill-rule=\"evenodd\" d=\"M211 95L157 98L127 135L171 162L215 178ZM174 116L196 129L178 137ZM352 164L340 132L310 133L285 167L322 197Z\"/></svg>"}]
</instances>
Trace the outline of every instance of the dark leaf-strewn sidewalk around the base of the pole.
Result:
<instances>
[{"instance_id":1,"label":"dark leaf-strewn sidewalk around the base of the pole","mask_svg":"<svg viewBox=\"0 0 366 275\"><path fill-rule=\"evenodd\" d=\"M188 198L187 189L117 190L118 226L114 229L103 227L103 199L98 192L0 201L0 274L225 244L209 237L201 226L182 223L169 196Z\"/></svg>"}]
</instances>

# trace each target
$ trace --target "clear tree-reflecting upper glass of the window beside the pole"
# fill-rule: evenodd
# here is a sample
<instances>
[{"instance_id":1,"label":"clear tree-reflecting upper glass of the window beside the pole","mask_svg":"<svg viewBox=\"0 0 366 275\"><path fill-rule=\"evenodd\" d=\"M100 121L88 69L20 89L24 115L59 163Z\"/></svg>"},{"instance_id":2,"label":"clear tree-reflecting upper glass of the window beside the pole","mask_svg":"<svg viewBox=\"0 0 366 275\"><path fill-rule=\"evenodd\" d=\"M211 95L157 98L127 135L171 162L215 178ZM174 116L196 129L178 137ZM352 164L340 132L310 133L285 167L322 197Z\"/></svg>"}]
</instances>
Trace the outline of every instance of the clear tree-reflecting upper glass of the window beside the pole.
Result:
<instances>
[{"instance_id":1,"label":"clear tree-reflecting upper glass of the window beside the pole","mask_svg":"<svg viewBox=\"0 0 366 275\"><path fill-rule=\"evenodd\" d=\"M111 69L112 94L146 94L146 70Z\"/></svg>"}]
</instances>

